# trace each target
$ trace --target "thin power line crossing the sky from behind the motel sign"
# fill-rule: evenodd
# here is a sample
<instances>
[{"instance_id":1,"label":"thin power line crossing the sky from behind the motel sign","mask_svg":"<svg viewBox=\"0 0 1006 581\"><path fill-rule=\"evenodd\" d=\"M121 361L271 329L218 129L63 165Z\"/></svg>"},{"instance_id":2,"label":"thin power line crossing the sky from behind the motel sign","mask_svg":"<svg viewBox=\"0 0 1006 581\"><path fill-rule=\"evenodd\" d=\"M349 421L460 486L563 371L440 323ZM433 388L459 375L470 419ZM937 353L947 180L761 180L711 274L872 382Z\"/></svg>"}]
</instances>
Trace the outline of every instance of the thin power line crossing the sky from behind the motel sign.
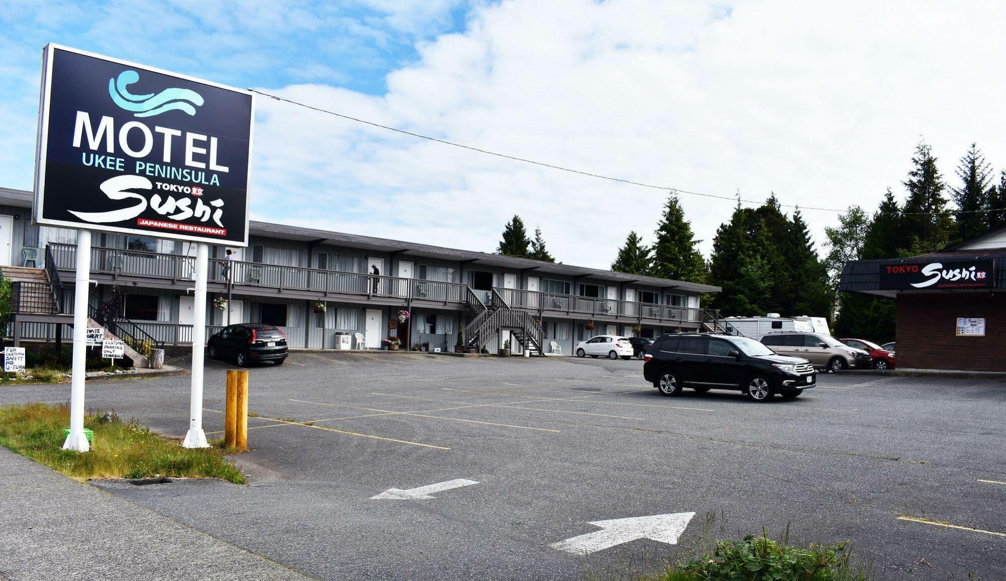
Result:
<instances>
[{"instance_id":1,"label":"thin power line crossing the sky from behind the motel sign","mask_svg":"<svg viewBox=\"0 0 1006 581\"><path fill-rule=\"evenodd\" d=\"M572 169L572 168L566 168L566 167L563 167L563 166L557 166L557 165L554 165L554 164L548 164L548 163L545 163L545 162L539 162L539 161L535 161L535 160L531 160L531 159L527 159L527 158L520 158L520 157L511 156L511 155L507 155L507 154L501 154L501 153L498 153L498 152L494 152L494 151L490 151L490 150L484 150L484 149L481 149L481 148L477 148L477 147L473 147L473 146L468 146L468 145L460 144L460 143L453 142L453 141L448 141L448 140L444 140L444 139L430 137L430 136L423 135L423 134L420 134L420 133L405 131L403 129L398 129L398 128L394 128L394 127L390 127L390 126L386 126L386 125L381 125L379 123L375 123L375 122L372 122L372 121L367 121L365 119L359 119L359 118L356 118L356 117L351 117L351 116L348 116L348 115L343 115L341 113L336 113L334 111L327 110L327 109L321 109L321 108L318 108L318 107L314 107L312 105L308 105L306 103L301 103L299 101L293 101L291 99L286 99L286 98L280 96L278 94L273 94L273 93L270 93L270 92L265 92L265 91L262 91L262 90L256 89L256 88L252 88L250 86L248 87L248 90L250 90L252 92L257 92L257 93L259 93L259 94L261 94L263 96L268 96L270 99L274 99L276 101L281 101L281 102L284 102L284 103L289 103L290 105L296 105L298 107L303 107L305 109L310 109L310 110L316 111L318 113L324 113L324 114L335 116L335 117L338 117L338 118L342 118L342 119L345 119L345 120L348 120L348 121L353 121L353 122L356 122L356 123L360 123L360 124L363 124L363 125L369 125L371 127L376 127L376 128L383 129L383 130L386 130L386 131L390 131L390 132L394 132L394 133L399 133L399 134L402 134L402 135L407 135L407 136L411 136L411 137L418 138L418 139L425 139L425 140L428 140L428 141L437 142L439 144L449 145L449 146L452 146L452 147L466 149L466 150L470 150L470 151L473 151L473 152L478 152L478 153L486 154L486 155L490 155L490 156L496 156L498 158L504 158L504 159L508 159L508 160L512 160L512 161L516 161L516 162L521 162L521 163L525 163L525 164L531 164L531 165L535 165L535 166L541 166L541 167L544 167L544 168L550 168L550 169L553 169L553 170L559 170L559 171L568 172L568 173L571 173L571 174L579 174L581 176L588 176L588 177L592 177L592 178L599 178L599 179L608 180L608 181L611 181L611 182L620 182L620 183L623 183L623 184L630 184L630 185L633 185L633 186L640 186L640 187L643 187L643 188L651 188L651 189L655 189L655 190L668 191L668 192L673 192L673 193L676 193L676 194L688 194L688 195L691 195L691 196L701 196L701 197L704 197L704 198L715 198L715 199L718 199L718 200L727 200L727 201L738 202L738 203L739 202L744 202L744 203L748 203L748 204L764 204L765 203L764 201L761 201L761 200L745 200L745 199L741 198L739 196L739 194L736 195L736 196L720 196L720 195L716 195L716 194L706 194L706 193L702 193L702 192L692 192L692 191L689 191L689 190L682 190L680 188L673 188L673 187L670 187L670 186L658 186L658 185L655 185L655 184L647 184L647 183L643 183L643 182L637 182L637 181L633 181L633 180L628 180L628 179L625 179L625 178L616 178L616 177L612 177L612 176L606 176L604 174L597 174L597 173L593 173L593 172L585 172L585 171L582 171L582 170L576 170L576 169ZM848 211L847 209L845 209L845 210L839 210L839 209L836 209L836 208L820 208L820 207L815 207L815 206L800 206L800 205L797 205L797 204L779 204L779 206L782 207L782 208L795 208L795 209L801 209L801 210L817 210L817 211L821 211L821 212L836 212L836 213L839 213L839 214L844 214L846 211ZM951 211L951 210L947 210L947 211L944 211L944 212L897 212L897 213L899 215L917 216L917 215L937 215L937 214L974 214L974 213L1001 212L1001 211L1006 211L1006 210L968 210L968 211ZM893 212L877 212L877 213L891 214Z\"/></svg>"}]
</instances>

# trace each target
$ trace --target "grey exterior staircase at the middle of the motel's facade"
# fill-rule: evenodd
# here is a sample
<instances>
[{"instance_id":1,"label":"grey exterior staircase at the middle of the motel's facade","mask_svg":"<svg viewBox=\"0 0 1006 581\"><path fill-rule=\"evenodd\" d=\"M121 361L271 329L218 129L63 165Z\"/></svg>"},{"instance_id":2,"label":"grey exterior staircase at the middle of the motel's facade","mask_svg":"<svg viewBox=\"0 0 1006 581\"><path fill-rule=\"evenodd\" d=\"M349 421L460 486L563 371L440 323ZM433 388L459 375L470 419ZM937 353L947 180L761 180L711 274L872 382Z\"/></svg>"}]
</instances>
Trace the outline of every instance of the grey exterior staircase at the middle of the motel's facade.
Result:
<instances>
[{"instance_id":1,"label":"grey exterior staircase at the middle of the motel's facade","mask_svg":"<svg viewBox=\"0 0 1006 581\"><path fill-rule=\"evenodd\" d=\"M465 327L465 350L480 352L495 339L501 331L509 331L511 341L520 343L524 350L541 355L545 332L534 316L525 311L512 309L496 290L486 305L468 288L466 298L469 309L475 312L475 319Z\"/></svg>"}]
</instances>

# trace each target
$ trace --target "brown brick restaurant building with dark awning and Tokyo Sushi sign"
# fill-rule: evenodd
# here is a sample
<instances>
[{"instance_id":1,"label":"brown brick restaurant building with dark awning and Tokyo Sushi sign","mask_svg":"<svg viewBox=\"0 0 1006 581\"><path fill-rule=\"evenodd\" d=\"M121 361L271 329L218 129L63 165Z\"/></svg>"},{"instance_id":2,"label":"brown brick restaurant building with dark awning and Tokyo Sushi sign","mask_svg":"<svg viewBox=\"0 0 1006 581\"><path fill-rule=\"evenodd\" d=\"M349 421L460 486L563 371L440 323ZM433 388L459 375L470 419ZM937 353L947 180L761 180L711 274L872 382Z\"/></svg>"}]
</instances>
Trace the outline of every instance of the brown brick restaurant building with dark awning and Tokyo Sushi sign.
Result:
<instances>
[{"instance_id":1,"label":"brown brick restaurant building with dark awning and Tokyo Sushi sign","mask_svg":"<svg viewBox=\"0 0 1006 581\"><path fill-rule=\"evenodd\" d=\"M894 299L898 369L1006 372L1006 228L931 254L849 261L839 289Z\"/></svg>"}]
</instances>

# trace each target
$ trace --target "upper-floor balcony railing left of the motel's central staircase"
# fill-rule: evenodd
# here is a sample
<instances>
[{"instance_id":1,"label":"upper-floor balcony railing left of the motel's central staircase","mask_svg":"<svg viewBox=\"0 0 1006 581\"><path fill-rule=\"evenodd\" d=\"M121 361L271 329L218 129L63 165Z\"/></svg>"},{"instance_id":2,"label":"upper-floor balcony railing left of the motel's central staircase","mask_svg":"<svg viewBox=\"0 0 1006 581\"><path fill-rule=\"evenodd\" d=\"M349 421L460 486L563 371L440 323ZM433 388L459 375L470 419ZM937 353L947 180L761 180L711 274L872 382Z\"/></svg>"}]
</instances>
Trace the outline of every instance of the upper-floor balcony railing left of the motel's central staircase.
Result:
<instances>
[{"instance_id":1,"label":"upper-floor balcony railing left of the motel's central staircase","mask_svg":"<svg viewBox=\"0 0 1006 581\"><path fill-rule=\"evenodd\" d=\"M75 267L76 246L50 244L52 259L58 268ZM228 273L228 268L230 272ZM172 280L195 279L195 258L180 254L161 254L141 250L95 247L91 250L91 269L114 275L149 276ZM306 290L327 295L363 295L402 300L463 303L464 284L438 280L418 280L397 276L376 276L303 266L280 266L213 258L209 261L209 280L235 287L255 286L277 290Z\"/></svg>"}]
</instances>

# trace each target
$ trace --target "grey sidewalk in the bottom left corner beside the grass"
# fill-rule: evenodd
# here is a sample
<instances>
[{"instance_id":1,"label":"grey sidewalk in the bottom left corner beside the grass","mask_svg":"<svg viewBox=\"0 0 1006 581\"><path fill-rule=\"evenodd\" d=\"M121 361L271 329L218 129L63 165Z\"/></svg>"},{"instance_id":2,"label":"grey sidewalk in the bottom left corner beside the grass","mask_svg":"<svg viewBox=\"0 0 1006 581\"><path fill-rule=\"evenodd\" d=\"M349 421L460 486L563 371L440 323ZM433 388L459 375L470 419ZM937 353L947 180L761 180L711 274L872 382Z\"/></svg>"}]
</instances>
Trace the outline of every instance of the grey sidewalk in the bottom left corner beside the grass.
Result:
<instances>
[{"instance_id":1,"label":"grey sidewalk in the bottom left corner beside the grass","mask_svg":"<svg viewBox=\"0 0 1006 581\"><path fill-rule=\"evenodd\" d=\"M311 578L0 447L0 579Z\"/></svg>"}]
</instances>

